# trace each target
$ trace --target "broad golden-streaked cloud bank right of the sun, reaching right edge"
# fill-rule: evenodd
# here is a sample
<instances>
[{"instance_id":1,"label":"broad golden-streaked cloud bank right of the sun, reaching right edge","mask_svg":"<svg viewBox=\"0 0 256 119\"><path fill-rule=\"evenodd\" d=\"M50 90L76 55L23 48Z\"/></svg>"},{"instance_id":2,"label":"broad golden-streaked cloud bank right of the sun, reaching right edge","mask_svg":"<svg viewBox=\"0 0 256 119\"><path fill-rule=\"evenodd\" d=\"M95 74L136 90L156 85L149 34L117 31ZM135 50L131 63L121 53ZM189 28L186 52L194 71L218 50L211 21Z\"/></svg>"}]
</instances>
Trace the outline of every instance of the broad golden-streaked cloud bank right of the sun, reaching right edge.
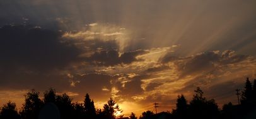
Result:
<instances>
[{"instance_id":1,"label":"broad golden-streaked cloud bank right of the sun, reaching right edge","mask_svg":"<svg viewBox=\"0 0 256 119\"><path fill-rule=\"evenodd\" d=\"M174 53L169 51L165 53L165 56L158 57L156 63L145 60L141 62L144 67L130 65L132 69L140 68L130 72L136 73L136 80L127 76L120 78L120 82L124 82L119 88L120 100L134 100L145 105L158 101L173 106L177 95L183 94L190 100L195 88L201 86L207 98L215 98L220 105L227 103L227 100L235 103L235 95L231 95L231 92L235 88L243 88L243 78L255 76L255 58L236 54L232 50L209 51L192 56L172 56ZM150 54L140 57L145 58ZM133 86L127 85L129 81ZM128 91L129 87L133 89ZM226 90L219 94L218 91L223 89Z\"/></svg>"}]
</instances>

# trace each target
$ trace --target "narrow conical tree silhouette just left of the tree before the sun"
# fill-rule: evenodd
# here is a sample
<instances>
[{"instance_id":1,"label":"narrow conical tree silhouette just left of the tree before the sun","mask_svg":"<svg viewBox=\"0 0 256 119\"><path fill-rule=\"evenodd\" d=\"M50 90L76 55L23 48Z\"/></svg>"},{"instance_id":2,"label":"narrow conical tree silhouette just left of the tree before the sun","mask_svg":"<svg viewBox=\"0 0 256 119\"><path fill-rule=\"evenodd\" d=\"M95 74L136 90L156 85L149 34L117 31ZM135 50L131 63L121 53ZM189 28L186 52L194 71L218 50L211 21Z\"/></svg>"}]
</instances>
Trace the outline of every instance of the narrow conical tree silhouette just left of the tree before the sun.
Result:
<instances>
[{"instance_id":1,"label":"narrow conical tree silhouette just left of the tree before the sun","mask_svg":"<svg viewBox=\"0 0 256 119\"><path fill-rule=\"evenodd\" d=\"M96 117L96 110L94 106L94 101L90 99L90 96L88 93L86 93L85 99L84 99L84 110L86 113L86 116L89 118L95 118Z\"/></svg>"}]
</instances>

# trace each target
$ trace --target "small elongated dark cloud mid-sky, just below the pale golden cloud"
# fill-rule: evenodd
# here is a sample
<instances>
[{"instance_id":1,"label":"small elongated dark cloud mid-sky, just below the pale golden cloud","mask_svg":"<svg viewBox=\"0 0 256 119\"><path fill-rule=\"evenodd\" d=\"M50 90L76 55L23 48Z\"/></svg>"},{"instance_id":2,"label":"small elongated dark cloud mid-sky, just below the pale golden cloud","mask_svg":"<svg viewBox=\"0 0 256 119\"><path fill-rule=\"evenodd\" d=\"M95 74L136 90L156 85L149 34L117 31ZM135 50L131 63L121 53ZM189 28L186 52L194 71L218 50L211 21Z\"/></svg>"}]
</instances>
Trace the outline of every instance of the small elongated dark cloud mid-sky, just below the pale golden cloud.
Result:
<instances>
[{"instance_id":1,"label":"small elongated dark cloud mid-sky, just below the pale golden cloud","mask_svg":"<svg viewBox=\"0 0 256 119\"><path fill-rule=\"evenodd\" d=\"M113 66L120 65L122 63L129 64L133 61L142 61L143 59L136 59L136 56L148 53L148 51L137 50L125 52L119 56L119 52L117 50L103 50L100 52L95 52L86 61L90 63L94 63L95 65L103 65L103 66Z\"/></svg>"}]
</instances>

